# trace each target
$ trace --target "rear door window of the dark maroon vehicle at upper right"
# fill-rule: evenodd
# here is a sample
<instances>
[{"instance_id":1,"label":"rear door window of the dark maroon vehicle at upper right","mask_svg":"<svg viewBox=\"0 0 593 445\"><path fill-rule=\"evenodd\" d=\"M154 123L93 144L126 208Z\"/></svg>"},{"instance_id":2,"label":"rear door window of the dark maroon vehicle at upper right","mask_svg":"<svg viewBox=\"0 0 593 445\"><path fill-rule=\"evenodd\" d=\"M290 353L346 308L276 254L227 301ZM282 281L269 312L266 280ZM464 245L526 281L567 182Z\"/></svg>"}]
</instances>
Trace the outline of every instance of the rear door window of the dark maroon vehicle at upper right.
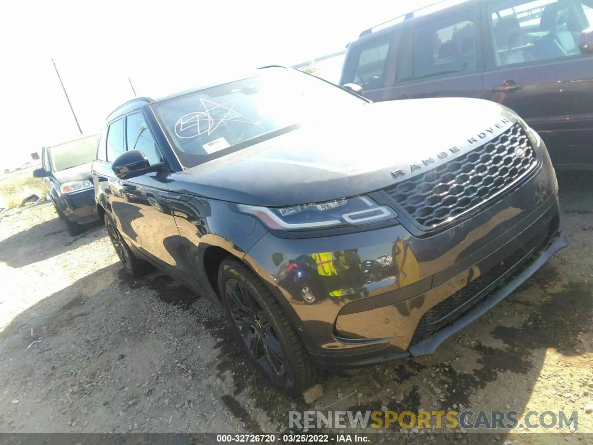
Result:
<instances>
[{"instance_id":1,"label":"rear door window of the dark maroon vehicle at upper right","mask_svg":"<svg viewBox=\"0 0 593 445\"><path fill-rule=\"evenodd\" d=\"M476 71L476 9L435 17L414 28L415 79Z\"/></svg>"}]
</instances>

